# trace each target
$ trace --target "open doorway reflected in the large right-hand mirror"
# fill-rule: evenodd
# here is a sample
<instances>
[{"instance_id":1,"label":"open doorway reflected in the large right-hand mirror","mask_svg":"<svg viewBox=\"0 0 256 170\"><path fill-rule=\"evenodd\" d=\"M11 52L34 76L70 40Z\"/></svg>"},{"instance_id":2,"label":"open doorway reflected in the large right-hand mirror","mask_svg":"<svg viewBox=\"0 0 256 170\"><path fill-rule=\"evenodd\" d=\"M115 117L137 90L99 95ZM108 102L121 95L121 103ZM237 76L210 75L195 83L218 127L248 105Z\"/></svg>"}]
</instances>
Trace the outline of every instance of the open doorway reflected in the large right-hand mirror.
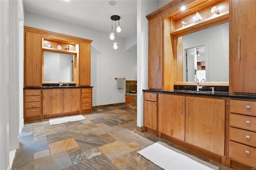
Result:
<instances>
[{"instance_id":1,"label":"open doorway reflected in the large right-hand mirror","mask_svg":"<svg viewBox=\"0 0 256 170\"><path fill-rule=\"evenodd\" d=\"M185 49L187 82L206 81L205 46Z\"/></svg>"}]
</instances>

